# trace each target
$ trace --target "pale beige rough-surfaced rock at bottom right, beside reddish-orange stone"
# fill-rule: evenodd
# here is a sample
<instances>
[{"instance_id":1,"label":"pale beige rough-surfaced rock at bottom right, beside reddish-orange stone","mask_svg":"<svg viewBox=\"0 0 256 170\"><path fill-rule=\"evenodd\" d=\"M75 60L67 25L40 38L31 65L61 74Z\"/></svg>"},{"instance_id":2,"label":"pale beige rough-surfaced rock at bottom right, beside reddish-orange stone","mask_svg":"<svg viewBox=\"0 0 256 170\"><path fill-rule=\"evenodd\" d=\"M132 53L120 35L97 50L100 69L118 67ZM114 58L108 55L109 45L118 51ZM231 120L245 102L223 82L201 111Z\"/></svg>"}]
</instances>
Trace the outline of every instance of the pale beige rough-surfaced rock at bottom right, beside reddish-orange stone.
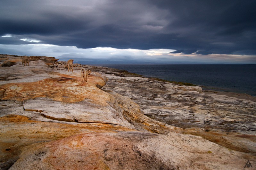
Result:
<instances>
[{"instance_id":1,"label":"pale beige rough-surfaced rock at bottom right, beside reddish-orange stone","mask_svg":"<svg viewBox=\"0 0 256 170\"><path fill-rule=\"evenodd\" d=\"M143 139L134 150L147 161L158 163L159 169L241 169L246 159L255 157L247 157L198 136L175 133Z\"/></svg>"}]
</instances>

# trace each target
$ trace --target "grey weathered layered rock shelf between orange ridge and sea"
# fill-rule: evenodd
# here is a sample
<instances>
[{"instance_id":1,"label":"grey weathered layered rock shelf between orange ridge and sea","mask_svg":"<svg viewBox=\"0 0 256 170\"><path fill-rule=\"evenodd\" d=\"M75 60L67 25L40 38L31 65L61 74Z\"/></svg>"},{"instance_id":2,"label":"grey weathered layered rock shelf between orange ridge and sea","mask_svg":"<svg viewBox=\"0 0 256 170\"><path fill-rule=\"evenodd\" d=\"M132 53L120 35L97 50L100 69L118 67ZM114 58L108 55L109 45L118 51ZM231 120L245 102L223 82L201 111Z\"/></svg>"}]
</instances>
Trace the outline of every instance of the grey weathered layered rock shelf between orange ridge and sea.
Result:
<instances>
[{"instance_id":1,"label":"grey weathered layered rock shelf between orange ridge and sea","mask_svg":"<svg viewBox=\"0 0 256 170\"><path fill-rule=\"evenodd\" d=\"M254 101L205 94L201 87L179 86L142 77L103 75L108 77L103 89L130 98L154 120L181 128L255 134Z\"/></svg>"}]
</instances>

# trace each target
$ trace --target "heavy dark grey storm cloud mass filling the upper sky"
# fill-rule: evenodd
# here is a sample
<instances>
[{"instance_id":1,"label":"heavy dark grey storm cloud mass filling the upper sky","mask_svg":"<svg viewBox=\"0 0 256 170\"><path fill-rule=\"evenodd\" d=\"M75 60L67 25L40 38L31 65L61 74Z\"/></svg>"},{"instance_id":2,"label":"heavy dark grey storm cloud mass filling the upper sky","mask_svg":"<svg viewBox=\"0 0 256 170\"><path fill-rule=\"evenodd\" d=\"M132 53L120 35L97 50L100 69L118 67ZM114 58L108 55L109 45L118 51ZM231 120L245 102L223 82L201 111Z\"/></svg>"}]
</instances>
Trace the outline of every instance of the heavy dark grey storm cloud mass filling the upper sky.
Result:
<instances>
[{"instance_id":1,"label":"heavy dark grey storm cloud mass filling the upper sky","mask_svg":"<svg viewBox=\"0 0 256 170\"><path fill-rule=\"evenodd\" d=\"M254 0L2 0L0 36L78 48L255 55L255 9Z\"/></svg>"}]
</instances>

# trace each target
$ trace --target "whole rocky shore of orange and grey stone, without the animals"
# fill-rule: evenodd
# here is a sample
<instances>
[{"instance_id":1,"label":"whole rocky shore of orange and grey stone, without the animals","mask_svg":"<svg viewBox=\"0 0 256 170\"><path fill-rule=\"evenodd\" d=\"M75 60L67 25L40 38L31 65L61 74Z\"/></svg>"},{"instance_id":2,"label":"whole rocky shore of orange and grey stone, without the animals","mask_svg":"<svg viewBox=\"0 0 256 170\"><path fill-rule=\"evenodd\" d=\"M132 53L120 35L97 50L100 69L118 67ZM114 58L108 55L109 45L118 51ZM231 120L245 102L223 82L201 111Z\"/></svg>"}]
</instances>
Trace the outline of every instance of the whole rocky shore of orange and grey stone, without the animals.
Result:
<instances>
[{"instance_id":1,"label":"whole rocky shore of orange and grey stone, without the animals","mask_svg":"<svg viewBox=\"0 0 256 170\"><path fill-rule=\"evenodd\" d=\"M256 167L253 97L65 64L0 54L1 169Z\"/></svg>"}]
</instances>

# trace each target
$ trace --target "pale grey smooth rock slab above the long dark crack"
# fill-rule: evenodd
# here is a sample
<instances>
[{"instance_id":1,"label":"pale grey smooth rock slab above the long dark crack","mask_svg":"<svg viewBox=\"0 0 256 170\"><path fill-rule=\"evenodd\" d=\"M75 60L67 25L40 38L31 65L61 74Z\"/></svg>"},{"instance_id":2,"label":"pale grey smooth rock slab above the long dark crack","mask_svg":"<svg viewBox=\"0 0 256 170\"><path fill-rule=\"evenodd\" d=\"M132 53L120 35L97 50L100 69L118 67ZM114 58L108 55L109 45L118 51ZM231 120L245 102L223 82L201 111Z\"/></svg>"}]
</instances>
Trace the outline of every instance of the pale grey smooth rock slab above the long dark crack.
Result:
<instances>
[{"instance_id":1,"label":"pale grey smooth rock slab above the long dark crack","mask_svg":"<svg viewBox=\"0 0 256 170\"><path fill-rule=\"evenodd\" d=\"M105 95L108 95L108 93L105 93ZM105 123L134 128L121 115L121 109L117 105L117 101L116 105L114 105L111 102L115 101L115 99L112 98L111 101L111 96L108 99L108 101L95 104L91 103L90 100L64 103L47 98L37 98L24 101L24 108L25 111L37 111L40 115L53 120L78 123ZM39 120L38 117L37 120Z\"/></svg>"}]
</instances>

